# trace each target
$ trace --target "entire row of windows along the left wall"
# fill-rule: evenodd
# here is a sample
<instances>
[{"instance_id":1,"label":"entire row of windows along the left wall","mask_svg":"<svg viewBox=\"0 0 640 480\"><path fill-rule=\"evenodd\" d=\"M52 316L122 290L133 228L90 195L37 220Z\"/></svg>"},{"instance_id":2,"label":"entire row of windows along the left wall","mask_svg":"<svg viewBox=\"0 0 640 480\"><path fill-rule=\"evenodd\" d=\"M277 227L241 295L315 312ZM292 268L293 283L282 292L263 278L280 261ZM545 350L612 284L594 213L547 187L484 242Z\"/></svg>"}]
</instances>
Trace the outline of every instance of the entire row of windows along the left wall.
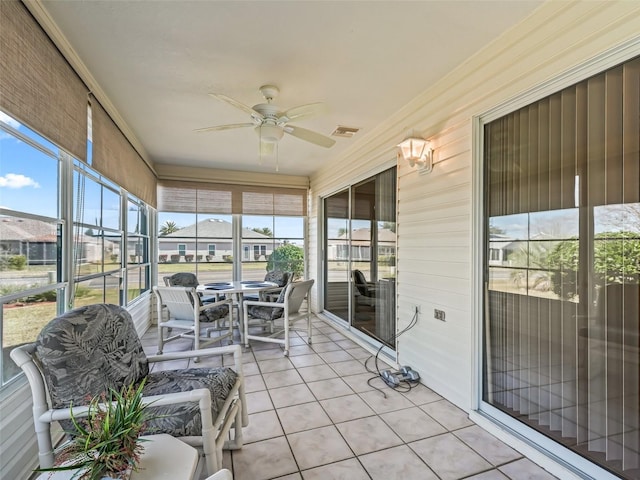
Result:
<instances>
[{"instance_id":1,"label":"entire row of windows along the left wall","mask_svg":"<svg viewBox=\"0 0 640 480\"><path fill-rule=\"evenodd\" d=\"M72 172L71 178L63 172ZM66 183L72 185L68 201L60 188ZM147 291L148 210L84 162L0 112L3 351L35 340L44 324L65 310L102 302L126 305ZM64 217L66 211L71 218ZM68 224L70 235L64 228ZM63 269L67 261L69 272ZM8 355L0 358L0 366L3 385L19 373Z\"/></svg>"}]
</instances>

